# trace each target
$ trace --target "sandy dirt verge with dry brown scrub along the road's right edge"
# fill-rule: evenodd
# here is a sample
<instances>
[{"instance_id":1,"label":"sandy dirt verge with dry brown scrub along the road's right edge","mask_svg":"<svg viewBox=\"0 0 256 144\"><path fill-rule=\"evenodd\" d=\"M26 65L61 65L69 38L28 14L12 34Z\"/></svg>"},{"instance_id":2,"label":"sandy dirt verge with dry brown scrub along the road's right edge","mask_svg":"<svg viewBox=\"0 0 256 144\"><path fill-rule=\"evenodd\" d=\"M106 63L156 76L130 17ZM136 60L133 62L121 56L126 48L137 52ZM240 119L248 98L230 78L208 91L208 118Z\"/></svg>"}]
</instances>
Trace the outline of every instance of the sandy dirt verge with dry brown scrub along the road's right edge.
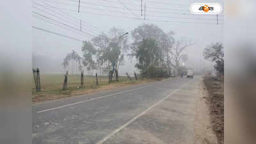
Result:
<instances>
[{"instance_id":1,"label":"sandy dirt verge with dry brown scrub along the road's right edge","mask_svg":"<svg viewBox=\"0 0 256 144\"><path fill-rule=\"evenodd\" d=\"M224 143L223 81L205 76L196 102L195 144Z\"/></svg>"}]
</instances>

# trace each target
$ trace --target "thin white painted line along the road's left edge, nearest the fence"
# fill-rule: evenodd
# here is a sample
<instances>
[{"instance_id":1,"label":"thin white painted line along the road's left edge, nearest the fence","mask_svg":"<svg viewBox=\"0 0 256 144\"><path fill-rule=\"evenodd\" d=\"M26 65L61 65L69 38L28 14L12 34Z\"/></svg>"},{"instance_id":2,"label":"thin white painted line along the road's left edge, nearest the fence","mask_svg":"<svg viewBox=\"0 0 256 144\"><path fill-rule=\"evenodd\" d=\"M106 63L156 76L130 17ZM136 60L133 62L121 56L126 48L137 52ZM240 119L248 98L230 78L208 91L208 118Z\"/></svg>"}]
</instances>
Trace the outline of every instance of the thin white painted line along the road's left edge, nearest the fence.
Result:
<instances>
[{"instance_id":1,"label":"thin white painted line along the road's left edge, nearest the fence","mask_svg":"<svg viewBox=\"0 0 256 144\"><path fill-rule=\"evenodd\" d=\"M102 97L97 97L97 98L93 98L93 99L89 99L89 100L84 100L84 101L81 101L81 102L76 102L76 103L72 103L72 104L67 104L67 105L63 105L63 106L56 107L56 108L44 109L44 110L42 110L42 111L37 111L36 113L44 113L44 112L52 111L52 110L55 110L55 109L65 108L65 107L68 107L68 106L74 106L74 105L76 105L76 104L81 104L81 103L84 103L84 102L90 102L90 101L97 100L97 99L103 99L103 98L105 98L105 97L111 97L111 96L113 96L113 95L118 95L118 94L121 94L121 93L132 92L132 91L134 91L134 90L140 90L141 88L146 88L146 87L152 86L152 85L153 85L153 84L150 84L150 85L147 85L147 86L142 86L142 87L140 87L140 88L134 88L134 89L131 89L131 90L125 90L124 92L112 93L112 94L105 95L105 96L102 96Z\"/></svg>"}]
</instances>

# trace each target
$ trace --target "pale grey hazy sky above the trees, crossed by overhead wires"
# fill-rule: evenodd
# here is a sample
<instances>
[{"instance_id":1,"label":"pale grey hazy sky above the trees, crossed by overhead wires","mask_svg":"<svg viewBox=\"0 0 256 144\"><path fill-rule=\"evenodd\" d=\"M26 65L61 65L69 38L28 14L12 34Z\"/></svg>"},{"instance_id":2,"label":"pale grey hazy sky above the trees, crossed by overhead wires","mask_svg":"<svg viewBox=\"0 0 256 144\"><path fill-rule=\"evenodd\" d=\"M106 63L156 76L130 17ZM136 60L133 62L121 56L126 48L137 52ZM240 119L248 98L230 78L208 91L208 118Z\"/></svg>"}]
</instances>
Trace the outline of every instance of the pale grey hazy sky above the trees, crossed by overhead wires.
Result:
<instances>
[{"instance_id":1,"label":"pale grey hazy sky above the trees, crossed by overhead wires","mask_svg":"<svg viewBox=\"0 0 256 144\"><path fill-rule=\"evenodd\" d=\"M77 1L33 0L33 26L79 40L91 40L93 36L106 32L113 26L132 31L141 24L156 24L165 32L175 31L176 38L186 37L195 42L195 45L184 52L191 61L203 60L202 51L206 45L223 41L223 13L219 16L220 25L217 25L216 15L189 14L189 5L198 1L143 0L143 10L146 3L148 20L143 20L144 16L141 16L140 0L81 0L79 13ZM223 4L223 1L209 2ZM80 20L83 32L79 31ZM82 42L33 29L33 53L47 56L57 67L61 67L60 64L68 52L75 50L81 54L81 45ZM134 62L126 62L122 69L133 71L131 67L134 67Z\"/></svg>"}]
</instances>

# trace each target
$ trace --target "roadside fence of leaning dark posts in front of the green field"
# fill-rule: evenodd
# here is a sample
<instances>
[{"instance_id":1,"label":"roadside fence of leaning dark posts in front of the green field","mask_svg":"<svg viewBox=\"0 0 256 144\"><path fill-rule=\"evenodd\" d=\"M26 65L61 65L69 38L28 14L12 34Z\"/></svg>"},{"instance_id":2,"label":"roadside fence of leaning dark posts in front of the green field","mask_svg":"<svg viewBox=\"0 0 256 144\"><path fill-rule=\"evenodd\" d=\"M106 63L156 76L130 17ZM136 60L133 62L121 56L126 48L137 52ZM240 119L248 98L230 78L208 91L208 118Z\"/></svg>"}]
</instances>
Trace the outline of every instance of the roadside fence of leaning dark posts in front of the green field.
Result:
<instances>
[{"instance_id":1,"label":"roadside fence of leaning dark posts in front of the green field","mask_svg":"<svg viewBox=\"0 0 256 144\"><path fill-rule=\"evenodd\" d=\"M38 72L37 72L38 71ZM97 72L90 72L90 74L41 74L39 69L33 69L35 77L35 87L33 88L36 92L47 91L47 92L60 92L61 90L72 90L77 88L95 88L97 87L97 80L99 85L108 84L109 79L107 74L98 74ZM97 74L97 79L96 79ZM67 79L66 76L67 75ZM125 73L120 73L119 81L130 81ZM129 74L132 80L136 80L133 73ZM38 80L36 80L38 79ZM40 84L38 85L38 81ZM66 81L66 83L65 83ZM115 75L113 75L113 81L115 82ZM38 86L40 90L38 90Z\"/></svg>"}]
</instances>

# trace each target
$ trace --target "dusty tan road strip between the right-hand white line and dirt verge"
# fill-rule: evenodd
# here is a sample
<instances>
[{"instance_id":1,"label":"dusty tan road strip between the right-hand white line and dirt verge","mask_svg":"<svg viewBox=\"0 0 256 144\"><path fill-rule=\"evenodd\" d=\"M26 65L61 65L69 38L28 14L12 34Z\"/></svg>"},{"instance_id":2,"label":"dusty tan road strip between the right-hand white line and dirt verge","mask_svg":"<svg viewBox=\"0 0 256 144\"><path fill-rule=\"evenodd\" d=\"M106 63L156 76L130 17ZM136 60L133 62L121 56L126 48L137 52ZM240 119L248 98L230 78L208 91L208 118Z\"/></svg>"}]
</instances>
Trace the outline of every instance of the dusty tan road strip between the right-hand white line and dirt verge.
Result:
<instances>
[{"instance_id":1,"label":"dusty tan road strip between the right-hand white line and dirt verge","mask_svg":"<svg viewBox=\"0 0 256 144\"><path fill-rule=\"evenodd\" d=\"M104 144L193 143L197 88L191 80Z\"/></svg>"}]
</instances>

